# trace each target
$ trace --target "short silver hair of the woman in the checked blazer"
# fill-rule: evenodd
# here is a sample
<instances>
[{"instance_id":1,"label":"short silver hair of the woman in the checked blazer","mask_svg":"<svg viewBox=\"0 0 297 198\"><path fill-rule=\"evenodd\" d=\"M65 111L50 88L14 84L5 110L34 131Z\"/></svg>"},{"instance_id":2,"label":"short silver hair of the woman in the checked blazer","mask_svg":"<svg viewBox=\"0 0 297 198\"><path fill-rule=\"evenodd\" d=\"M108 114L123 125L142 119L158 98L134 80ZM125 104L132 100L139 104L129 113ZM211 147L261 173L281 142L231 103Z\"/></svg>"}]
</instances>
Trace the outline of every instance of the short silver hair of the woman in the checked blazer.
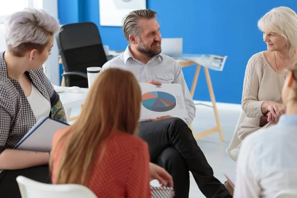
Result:
<instances>
[{"instance_id":1,"label":"short silver hair of the woman in the checked blazer","mask_svg":"<svg viewBox=\"0 0 297 198\"><path fill-rule=\"evenodd\" d=\"M32 49L43 52L53 36L60 30L57 19L45 10L25 8L8 16L4 22L7 50L22 57Z\"/></svg>"}]
</instances>

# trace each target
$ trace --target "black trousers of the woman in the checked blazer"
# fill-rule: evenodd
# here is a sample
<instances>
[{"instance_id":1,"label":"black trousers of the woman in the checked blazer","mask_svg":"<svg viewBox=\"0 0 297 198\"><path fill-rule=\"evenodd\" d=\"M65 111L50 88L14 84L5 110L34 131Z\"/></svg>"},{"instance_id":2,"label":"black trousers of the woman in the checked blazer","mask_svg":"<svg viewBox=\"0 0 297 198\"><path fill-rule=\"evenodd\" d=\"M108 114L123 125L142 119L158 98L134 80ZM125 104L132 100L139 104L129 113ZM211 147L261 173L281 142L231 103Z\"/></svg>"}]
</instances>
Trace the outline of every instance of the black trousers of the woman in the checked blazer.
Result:
<instances>
[{"instance_id":1,"label":"black trousers of the woman in the checked blazer","mask_svg":"<svg viewBox=\"0 0 297 198\"><path fill-rule=\"evenodd\" d=\"M16 177L22 175L42 183L50 183L49 166L35 166L19 170L5 170L0 173L0 197L21 198Z\"/></svg>"}]
</instances>

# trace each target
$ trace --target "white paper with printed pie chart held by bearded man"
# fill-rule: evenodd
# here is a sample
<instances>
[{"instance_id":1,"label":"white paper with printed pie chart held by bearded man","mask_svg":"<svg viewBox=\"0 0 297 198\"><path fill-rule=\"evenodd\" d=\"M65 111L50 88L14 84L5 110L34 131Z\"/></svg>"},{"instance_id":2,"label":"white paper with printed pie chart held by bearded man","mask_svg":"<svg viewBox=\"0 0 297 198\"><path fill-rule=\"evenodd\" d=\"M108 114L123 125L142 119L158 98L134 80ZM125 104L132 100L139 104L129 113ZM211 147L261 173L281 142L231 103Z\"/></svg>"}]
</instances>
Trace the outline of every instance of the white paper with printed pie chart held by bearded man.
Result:
<instances>
[{"instance_id":1,"label":"white paper with printed pie chart held by bearded man","mask_svg":"<svg viewBox=\"0 0 297 198\"><path fill-rule=\"evenodd\" d=\"M187 118L183 89L180 84L163 84L161 86L140 83L142 91L141 120L163 115Z\"/></svg>"}]
</instances>

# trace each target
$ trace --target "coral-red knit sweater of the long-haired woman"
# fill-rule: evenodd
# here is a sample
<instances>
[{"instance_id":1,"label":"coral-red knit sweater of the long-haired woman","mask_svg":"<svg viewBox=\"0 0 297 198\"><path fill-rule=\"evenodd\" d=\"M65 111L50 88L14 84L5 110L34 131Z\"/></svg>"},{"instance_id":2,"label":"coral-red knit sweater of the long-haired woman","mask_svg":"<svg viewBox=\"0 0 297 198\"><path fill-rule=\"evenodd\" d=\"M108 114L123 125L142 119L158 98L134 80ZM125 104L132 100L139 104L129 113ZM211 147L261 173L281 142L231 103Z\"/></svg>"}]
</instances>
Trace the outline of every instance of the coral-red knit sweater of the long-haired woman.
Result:
<instances>
[{"instance_id":1,"label":"coral-red knit sweater of the long-haired woman","mask_svg":"<svg viewBox=\"0 0 297 198\"><path fill-rule=\"evenodd\" d=\"M56 132L53 146L65 131L66 129L62 129ZM58 148L53 153L53 184L62 149ZM92 173L87 187L97 197L151 198L148 144L138 137L114 132L108 141L102 160L90 168Z\"/></svg>"}]
</instances>

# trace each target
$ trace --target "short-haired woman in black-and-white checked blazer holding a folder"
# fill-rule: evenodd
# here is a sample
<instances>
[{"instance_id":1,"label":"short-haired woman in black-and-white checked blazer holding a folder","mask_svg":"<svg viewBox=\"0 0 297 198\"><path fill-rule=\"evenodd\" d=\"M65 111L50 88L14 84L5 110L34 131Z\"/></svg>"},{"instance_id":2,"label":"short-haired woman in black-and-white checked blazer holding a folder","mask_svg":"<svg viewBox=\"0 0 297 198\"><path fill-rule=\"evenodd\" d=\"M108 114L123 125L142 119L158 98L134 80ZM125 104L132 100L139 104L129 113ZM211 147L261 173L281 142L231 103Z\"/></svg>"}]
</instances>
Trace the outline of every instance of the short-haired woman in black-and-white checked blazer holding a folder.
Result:
<instances>
[{"instance_id":1,"label":"short-haired woman in black-and-white checked blazer holding a folder","mask_svg":"<svg viewBox=\"0 0 297 198\"><path fill-rule=\"evenodd\" d=\"M59 95L42 65L50 55L58 21L43 10L25 9L5 21L0 53L0 197L20 198L15 178L47 182L49 153L13 149L43 116L64 121Z\"/></svg>"}]
</instances>

